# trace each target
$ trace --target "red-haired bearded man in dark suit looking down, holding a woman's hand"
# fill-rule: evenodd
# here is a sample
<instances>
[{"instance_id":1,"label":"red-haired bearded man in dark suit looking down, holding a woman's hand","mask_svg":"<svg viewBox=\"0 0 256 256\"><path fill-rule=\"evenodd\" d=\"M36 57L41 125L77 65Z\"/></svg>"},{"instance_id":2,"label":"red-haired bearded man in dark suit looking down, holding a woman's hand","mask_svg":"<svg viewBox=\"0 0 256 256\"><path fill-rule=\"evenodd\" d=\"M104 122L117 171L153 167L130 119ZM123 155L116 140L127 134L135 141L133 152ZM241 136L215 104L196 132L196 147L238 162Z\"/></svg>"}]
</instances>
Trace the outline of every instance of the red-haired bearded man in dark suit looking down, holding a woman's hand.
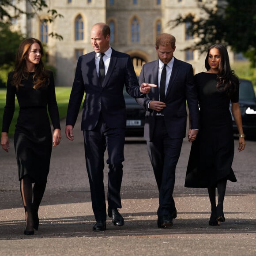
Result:
<instances>
[{"instance_id":1,"label":"red-haired bearded man in dark suit looking down, holding a woman's hand","mask_svg":"<svg viewBox=\"0 0 256 256\"><path fill-rule=\"evenodd\" d=\"M175 38L161 34L155 49L159 60L144 64L139 83L153 83L149 94L136 101L146 109L144 138L159 190L158 227L173 226L175 169L186 133L186 101L190 112L188 140L198 132L198 100L192 65L173 57Z\"/></svg>"}]
</instances>

